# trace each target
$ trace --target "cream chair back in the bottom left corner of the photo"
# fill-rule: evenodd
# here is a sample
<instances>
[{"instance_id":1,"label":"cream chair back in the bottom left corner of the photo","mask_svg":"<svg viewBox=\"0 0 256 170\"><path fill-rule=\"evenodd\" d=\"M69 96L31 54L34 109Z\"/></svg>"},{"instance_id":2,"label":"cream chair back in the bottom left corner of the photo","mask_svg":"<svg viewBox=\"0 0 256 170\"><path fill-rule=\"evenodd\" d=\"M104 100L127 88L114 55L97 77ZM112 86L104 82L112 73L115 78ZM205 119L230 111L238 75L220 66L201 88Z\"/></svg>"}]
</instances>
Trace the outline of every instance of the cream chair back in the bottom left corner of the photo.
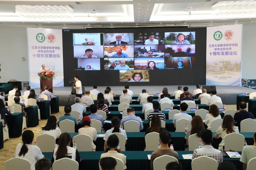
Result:
<instances>
[{"instance_id":1,"label":"cream chair back in the bottom left corner of the photo","mask_svg":"<svg viewBox=\"0 0 256 170\"><path fill-rule=\"evenodd\" d=\"M14 169L30 170L31 164L29 160L20 158L20 157L15 157L7 160L5 162L5 170L14 170Z\"/></svg>"}]
</instances>

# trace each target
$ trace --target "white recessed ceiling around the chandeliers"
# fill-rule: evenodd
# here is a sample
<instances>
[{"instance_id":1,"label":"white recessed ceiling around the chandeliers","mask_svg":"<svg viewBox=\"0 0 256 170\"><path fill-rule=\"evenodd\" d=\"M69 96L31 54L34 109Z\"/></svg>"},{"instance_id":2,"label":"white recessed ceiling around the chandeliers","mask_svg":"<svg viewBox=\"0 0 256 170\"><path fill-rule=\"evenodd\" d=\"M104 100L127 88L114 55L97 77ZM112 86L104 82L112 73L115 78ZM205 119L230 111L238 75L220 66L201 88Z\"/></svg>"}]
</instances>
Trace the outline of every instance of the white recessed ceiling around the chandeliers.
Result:
<instances>
[{"instance_id":1,"label":"white recessed ceiling around the chandeliers","mask_svg":"<svg viewBox=\"0 0 256 170\"><path fill-rule=\"evenodd\" d=\"M221 0L223 1L223 0ZM256 16L214 16L211 5L216 0L0 0L0 25L42 28L90 28L180 26L189 27L256 22ZM15 5L70 5L70 19L28 19L15 14ZM190 10L187 7L192 7ZM92 11L91 9L96 9ZM191 15L189 15L191 11ZM89 13L89 14L88 14ZM98 23L100 22L100 23Z\"/></svg>"}]
</instances>

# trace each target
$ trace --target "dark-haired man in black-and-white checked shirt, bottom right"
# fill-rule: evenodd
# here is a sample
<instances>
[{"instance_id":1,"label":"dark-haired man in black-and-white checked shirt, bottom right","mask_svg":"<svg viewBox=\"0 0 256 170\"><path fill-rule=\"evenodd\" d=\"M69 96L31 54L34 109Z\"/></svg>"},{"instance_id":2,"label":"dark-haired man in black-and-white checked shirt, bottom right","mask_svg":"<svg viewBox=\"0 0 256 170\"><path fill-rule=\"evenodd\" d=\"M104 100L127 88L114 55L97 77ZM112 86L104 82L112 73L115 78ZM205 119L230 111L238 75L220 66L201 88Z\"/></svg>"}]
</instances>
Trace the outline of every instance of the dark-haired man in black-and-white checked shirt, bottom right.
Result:
<instances>
[{"instance_id":1,"label":"dark-haired man in black-and-white checked shirt, bottom right","mask_svg":"<svg viewBox=\"0 0 256 170\"><path fill-rule=\"evenodd\" d=\"M201 156L207 156L210 158L213 158L217 161L218 165L223 161L223 155L220 150L214 149L213 146L211 145L212 141L212 132L209 129L203 129L199 133L201 140L204 144L202 148L196 149L193 152L192 155L192 160L201 157Z\"/></svg>"}]
</instances>

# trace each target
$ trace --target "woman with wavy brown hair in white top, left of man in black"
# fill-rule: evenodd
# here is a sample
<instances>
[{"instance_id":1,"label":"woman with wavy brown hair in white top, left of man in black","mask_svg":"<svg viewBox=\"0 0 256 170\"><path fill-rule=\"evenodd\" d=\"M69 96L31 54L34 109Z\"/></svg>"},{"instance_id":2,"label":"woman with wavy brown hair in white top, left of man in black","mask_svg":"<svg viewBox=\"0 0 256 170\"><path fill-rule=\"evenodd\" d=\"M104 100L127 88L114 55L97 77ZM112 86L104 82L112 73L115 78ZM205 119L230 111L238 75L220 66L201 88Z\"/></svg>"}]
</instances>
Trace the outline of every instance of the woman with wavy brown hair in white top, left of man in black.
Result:
<instances>
[{"instance_id":1,"label":"woman with wavy brown hair in white top, left of man in black","mask_svg":"<svg viewBox=\"0 0 256 170\"><path fill-rule=\"evenodd\" d=\"M205 124L208 126L207 129L211 130L211 122L215 119L221 119L220 110L218 106L212 104L209 108L209 113L205 117Z\"/></svg>"}]
</instances>

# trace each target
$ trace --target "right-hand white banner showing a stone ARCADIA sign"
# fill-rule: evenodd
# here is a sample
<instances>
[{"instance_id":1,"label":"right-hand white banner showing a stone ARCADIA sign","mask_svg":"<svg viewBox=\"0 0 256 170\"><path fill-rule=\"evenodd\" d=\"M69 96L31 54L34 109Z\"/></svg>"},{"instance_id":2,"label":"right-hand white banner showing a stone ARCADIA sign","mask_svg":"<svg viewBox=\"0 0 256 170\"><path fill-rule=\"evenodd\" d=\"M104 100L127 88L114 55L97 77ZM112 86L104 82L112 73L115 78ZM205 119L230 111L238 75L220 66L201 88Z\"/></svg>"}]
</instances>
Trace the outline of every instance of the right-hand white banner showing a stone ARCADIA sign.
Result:
<instances>
[{"instance_id":1,"label":"right-hand white banner showing a stone ARCADIA sign","mask_svg":"<svg viewBox=\"0 0 256 170\"><path fill-rule=\"evenodd\" d=\"M207 27L206 85L241 86L242 25Z\"/></svg>"}]
</instances>

